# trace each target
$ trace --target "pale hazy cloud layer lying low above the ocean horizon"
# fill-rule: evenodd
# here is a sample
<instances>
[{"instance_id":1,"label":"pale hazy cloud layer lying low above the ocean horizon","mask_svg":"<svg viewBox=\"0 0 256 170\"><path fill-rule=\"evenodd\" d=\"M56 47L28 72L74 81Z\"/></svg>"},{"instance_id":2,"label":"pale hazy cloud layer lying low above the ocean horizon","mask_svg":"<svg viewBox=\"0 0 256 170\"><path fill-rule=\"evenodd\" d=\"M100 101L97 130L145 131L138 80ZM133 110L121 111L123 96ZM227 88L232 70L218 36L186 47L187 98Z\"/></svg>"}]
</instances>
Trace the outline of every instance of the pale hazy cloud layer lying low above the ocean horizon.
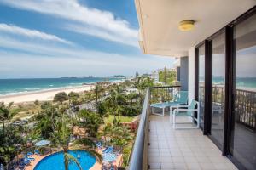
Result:
<instances>
[{"instance_id":1,"label":"pale hazy cloud layer lying low above the ocean horizon","mask_svg":"<svg viewBox=\"0 0 256 170\"><path fill-rule=\"evenodd\" d=\"M93 53L90 53L93 54ZM83 77L110 76L124 74L127 76L150 72L154 69L170 67L172 59L163 57L149 57L149 59L119 54L94 53L84 54L83 58L22 54L15 52L0 52L0 63L5 71L0 71L0 78L24 77Z\"/></svg>"}]
</instances>

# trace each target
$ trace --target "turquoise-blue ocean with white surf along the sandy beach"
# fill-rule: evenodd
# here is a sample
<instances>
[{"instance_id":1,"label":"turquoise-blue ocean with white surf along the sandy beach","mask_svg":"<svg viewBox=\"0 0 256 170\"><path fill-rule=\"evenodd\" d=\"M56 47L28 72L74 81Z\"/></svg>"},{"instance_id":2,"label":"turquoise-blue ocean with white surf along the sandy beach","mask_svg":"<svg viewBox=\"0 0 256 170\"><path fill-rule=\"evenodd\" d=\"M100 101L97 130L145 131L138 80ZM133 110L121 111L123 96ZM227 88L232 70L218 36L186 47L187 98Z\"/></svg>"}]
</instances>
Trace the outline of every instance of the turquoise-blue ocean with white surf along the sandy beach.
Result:
<instances>
[{"instance_id":1,"label":"turquoise-blue ocean with white surf along the sandy beach","mask_svg":"<svg viewBox=\"0 0 256 170\"><path fill-rule=\"evenodd\" d=\"M0 96L23 94L43 91L54 88L78 87L83 83L102 81L119 81L121 77L70 77L70 78L27 78L27 79L0 79Z\"/></svg>"}]
</instances>

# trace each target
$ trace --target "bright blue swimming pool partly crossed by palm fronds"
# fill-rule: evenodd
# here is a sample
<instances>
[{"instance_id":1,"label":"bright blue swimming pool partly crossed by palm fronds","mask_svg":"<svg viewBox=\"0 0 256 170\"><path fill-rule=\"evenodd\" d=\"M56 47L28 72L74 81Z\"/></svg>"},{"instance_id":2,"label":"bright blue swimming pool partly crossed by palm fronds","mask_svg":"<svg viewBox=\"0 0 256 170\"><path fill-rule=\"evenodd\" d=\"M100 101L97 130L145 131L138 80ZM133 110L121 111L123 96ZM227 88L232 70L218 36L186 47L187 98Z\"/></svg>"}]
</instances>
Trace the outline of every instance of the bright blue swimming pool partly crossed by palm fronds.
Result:
<instances>
[{"instance_id":1,"label":"bright blue swimming pool partly crossed by palm fronds","mask_svg":"<svg viewBox=\"0 0 256 170\"><path fill-rule=\"evenodd\" d=\"M91 156L84 150L68 150L68 153L76 157L83 168L83 170L90 169L95 162L96 158ZM39 161L34 170L64 170L64 154L63 152L57 152L50 156L44 157L43 160ZM79 167L72 161L69 164L69 170L79 170Z\"/></svg>"}]
</instances>

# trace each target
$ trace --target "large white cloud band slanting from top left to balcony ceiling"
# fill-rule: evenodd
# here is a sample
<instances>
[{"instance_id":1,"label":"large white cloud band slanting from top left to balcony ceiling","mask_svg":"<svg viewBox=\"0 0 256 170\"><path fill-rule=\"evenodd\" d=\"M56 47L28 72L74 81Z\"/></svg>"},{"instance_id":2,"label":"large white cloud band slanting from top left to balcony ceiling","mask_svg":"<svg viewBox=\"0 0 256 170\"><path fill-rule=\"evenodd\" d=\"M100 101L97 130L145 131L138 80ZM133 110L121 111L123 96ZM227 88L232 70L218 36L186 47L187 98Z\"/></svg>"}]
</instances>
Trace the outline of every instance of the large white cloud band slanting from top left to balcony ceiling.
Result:
<instances>
[{"instance_id":1,"label":"large white cloud band slanting from top left to balcony ceiling","mask_svg":"<svg viewBox=\"0 0 256 170\"><path fill-rule=\"evenodd\" d=\"M77 0L0 0L14 8L35 11L42 14L50 14L55 17L68 20L69 31L76 31L90 36L100 37L102 39L121 42L126 45L138 47L137 30L132 29L126 20L117 19L113 13L99 10L96 8L88 8L80 4ZM79 29L72 29L70 24ZM84 29L84 31L82 31ZM127 41L127 39L129 41Z\"/></svg>"}]
</instances>

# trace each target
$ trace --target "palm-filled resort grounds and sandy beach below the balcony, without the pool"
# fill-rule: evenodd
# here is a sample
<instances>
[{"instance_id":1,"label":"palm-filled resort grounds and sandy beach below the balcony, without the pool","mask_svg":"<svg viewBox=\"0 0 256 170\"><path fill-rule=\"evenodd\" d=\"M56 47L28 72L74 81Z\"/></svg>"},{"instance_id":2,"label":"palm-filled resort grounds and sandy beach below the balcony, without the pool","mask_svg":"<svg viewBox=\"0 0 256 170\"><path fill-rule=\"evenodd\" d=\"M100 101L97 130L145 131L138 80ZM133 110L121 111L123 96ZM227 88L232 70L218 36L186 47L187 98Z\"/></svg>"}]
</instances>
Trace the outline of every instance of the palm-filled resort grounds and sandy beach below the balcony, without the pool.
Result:
<instances>
[{"instance_id":1,"label":"palm-filled resort grounds and sandy beach below the balcony, without the pool","mask_svg":"<svg viewBox=\"0 0 256 170\"><path fill-rule=\"evenodd\" d=\"M0 125L6 136L0 141L6 157L1 163L8 169L38 169L38 162L56 152L84 150L96 159L90 169L127 167L145 89L152 85L149 77L137 77L1 97L0 114L6 113ZM38 146L41 141L49 144ZM66 159L61 166L72 162Z\"/></svg>"}]
</instances>

